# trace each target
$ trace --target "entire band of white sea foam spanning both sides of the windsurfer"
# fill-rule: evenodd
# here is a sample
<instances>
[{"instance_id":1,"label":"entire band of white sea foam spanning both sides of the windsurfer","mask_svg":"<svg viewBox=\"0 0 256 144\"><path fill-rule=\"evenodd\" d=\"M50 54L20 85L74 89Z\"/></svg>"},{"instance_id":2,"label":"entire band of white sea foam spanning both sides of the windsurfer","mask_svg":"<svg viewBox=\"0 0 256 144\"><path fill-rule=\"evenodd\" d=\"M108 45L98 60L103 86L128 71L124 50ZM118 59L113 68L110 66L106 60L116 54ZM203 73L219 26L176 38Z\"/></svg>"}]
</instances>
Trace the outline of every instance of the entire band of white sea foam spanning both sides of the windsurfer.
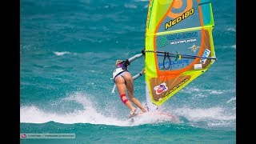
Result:
<instances>
[{"instance_id":1,"label":"entire band of white sea foam spanning both sides of the windsurfer","mask_svg":"<svg viewBox=\"0 0 256 144\"><path fill-rule=\"evenodd\" d=\"M118 115L118 109L113 104L110 104L108 107L97 107L97 102L91 98L88 94L79 92L62 98L61 101L72 101L82 105L82 110L75 110L64 114L53 109L43 110L38 106L22 106L20 108L20 122L44 123L54 121L66 124L90 123L112 126L138 126L156 122L179 122L179 120L175 122L174 118L164 114L151 113L139 115L134 118L134 122L130 122L128 118L122 118ZM231 98L228 102L234 101L234 99ZM236 118L235 114L228 114L223 108L218 106L211 108L176 108L172 109L171 114L174 114L174 117L177 118L185 117L190 122L207 122L209 126L226 125L226 122L234 121Z\"/></svg>"}]
</instances>

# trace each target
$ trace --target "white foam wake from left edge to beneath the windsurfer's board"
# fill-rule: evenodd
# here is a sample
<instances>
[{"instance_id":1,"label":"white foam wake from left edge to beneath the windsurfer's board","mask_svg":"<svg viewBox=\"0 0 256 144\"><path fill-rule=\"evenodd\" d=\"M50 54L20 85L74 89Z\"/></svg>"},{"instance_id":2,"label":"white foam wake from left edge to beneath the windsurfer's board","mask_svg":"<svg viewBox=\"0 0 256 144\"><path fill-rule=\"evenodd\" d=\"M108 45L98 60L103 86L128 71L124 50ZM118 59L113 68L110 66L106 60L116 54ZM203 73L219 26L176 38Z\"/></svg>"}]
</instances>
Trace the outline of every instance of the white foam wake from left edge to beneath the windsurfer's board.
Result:
<instances>
[{"instance_id":1,"label":"white foam wake from left edge to beneath the windsurfer's board","mask_svg":"<svg viewBox=\"0 0 256 144\"><path fill-rule=\"evenodd\" d=\"M71 94L62 100L78 102L84 107L84 109L76 110L71 113L61 114L54 112L54 110L42 110L38 108L38 106L22 106L20 108L20 122L44 123L54 121L66 124L91 123L114 126L136 126L145 123L171 120L170 117L166 117L164 115L158 115L156 117L152 114L143 114L143 117L138 117L135 122L130 122L128 117L118 118L118 116L115 116L114 114L105 115L104 110L98 110L98 108L94 105L95 103L90 100L90 98L87 98L86 94L81 93Z\"/></svg>"}]
</instances>

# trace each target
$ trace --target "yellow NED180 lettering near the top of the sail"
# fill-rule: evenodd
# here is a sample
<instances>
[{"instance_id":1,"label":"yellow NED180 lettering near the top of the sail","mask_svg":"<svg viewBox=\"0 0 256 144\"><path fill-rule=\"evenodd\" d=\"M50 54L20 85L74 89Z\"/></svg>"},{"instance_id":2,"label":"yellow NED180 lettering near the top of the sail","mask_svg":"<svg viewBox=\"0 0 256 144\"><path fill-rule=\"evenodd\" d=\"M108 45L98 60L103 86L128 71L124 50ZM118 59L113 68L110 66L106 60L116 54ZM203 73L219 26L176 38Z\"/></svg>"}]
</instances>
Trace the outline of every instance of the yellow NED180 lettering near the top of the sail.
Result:
<instances>
[{"instance_id":1,"label":"yellow NED180 lettering near the top of the sail","mask_svg":"<svg viewBox=\"0 0 256 144\"><path fill-rule=\"evenodd\" d=\"M185 18L189 18L190 15L194 14L194 8L186 11L184 14L179 16L178 18L174 18L173 20L170 20L170 22L166 22L165 29L169 29L171 26L176 25L178 22L182 22Z\"/></svg>"}]
</instances>

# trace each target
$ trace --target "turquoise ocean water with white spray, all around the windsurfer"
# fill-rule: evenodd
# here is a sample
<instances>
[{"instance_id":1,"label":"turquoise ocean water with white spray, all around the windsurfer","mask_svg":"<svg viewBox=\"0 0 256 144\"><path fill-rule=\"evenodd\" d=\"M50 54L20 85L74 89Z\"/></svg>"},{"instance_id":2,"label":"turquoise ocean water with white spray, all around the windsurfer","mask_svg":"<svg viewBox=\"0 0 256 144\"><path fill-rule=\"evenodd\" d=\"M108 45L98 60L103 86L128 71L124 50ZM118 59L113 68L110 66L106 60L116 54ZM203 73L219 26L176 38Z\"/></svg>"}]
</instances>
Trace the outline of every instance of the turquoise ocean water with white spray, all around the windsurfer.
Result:
<instances>
[{"instance_id":1,"label":"turquoise ocean water with white spray, all around the windsurfer","mask_svg":"<svg viewBox=\"0 0 256 144\"><path fill-rule=\"evenodd\" d=\"M218 61L161 106L179 122L127 119L110 78L117 58L145 46L148 2L20 1L20 134L75 134L21 143L236 143L234 0L212 2ZM143 77L134 94L145 105Z\"/></svg>"}]
</instances>

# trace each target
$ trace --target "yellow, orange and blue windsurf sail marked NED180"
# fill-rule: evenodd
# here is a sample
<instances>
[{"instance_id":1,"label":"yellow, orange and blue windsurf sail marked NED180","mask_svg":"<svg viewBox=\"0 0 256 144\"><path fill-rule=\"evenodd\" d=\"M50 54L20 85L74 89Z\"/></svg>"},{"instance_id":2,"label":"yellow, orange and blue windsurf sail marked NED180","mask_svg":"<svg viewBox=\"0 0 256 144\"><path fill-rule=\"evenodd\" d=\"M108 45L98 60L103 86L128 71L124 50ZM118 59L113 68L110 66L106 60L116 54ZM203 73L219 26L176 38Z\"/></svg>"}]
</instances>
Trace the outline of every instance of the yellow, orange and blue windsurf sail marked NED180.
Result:
<instances>
[{"instance_id":1,"label":"yellow, orange and blue windsurf sail marked NED180","mask_svg":"<svg viewBox=\"0 0 256 144\"><path fill-rule=\"evenodd\" d=\"M150 0L146 18L145 80L161 106L215 62L210 0Z\"/></svg>"}]
</instances>

